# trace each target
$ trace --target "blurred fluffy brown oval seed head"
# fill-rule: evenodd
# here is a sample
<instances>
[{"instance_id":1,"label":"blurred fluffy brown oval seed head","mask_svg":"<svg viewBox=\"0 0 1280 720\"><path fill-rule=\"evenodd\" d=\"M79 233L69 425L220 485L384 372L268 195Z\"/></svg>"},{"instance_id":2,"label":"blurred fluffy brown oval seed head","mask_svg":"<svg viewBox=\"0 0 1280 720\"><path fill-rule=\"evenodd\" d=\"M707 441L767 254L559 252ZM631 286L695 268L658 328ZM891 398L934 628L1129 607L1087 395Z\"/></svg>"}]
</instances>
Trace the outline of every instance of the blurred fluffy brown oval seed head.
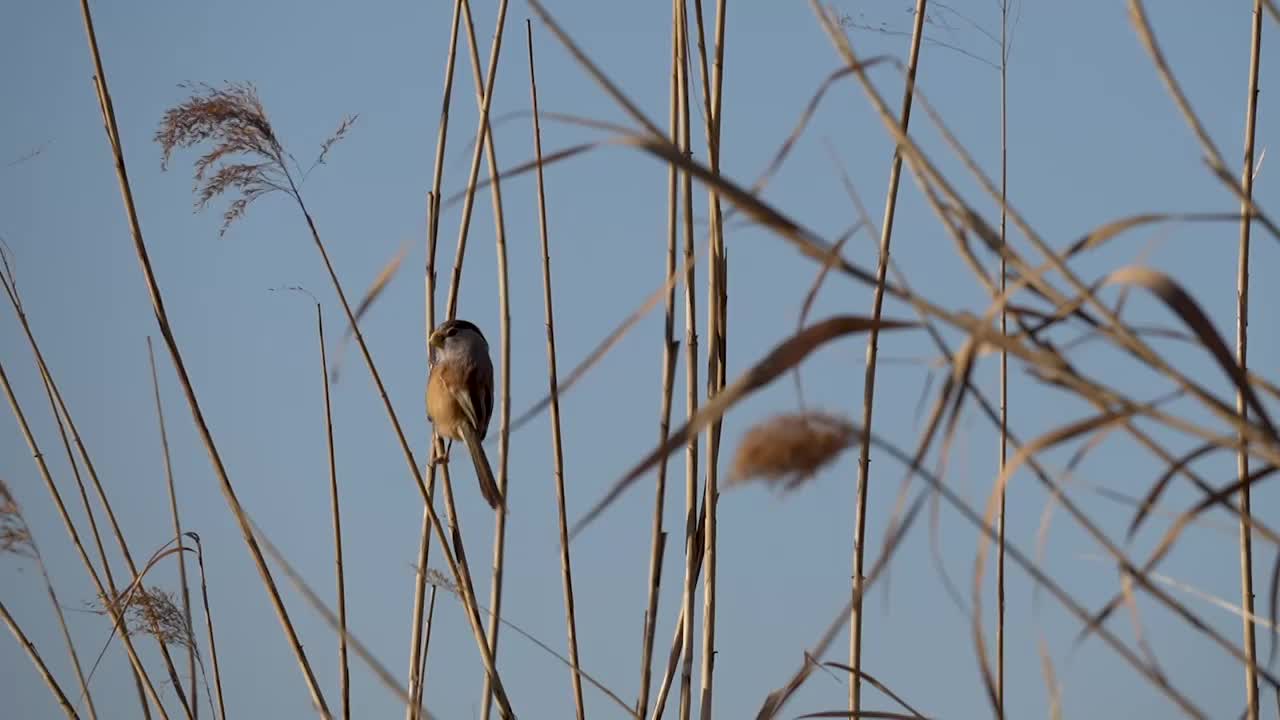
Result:
<instances>
[{"instance_id":1,"label":"blurred fluffy brown oval seed head","mask_svg":"<svg viewBox=\"0 0 1280 720\"><path fill-rule=\"evenodd\" d=\"M855 437L852 423L838 415L776 415L742 436L726 482L739 486L763 479L774 484L785 479L783 489L796 489L852 446Z\"/></svg>"}]
</instances>

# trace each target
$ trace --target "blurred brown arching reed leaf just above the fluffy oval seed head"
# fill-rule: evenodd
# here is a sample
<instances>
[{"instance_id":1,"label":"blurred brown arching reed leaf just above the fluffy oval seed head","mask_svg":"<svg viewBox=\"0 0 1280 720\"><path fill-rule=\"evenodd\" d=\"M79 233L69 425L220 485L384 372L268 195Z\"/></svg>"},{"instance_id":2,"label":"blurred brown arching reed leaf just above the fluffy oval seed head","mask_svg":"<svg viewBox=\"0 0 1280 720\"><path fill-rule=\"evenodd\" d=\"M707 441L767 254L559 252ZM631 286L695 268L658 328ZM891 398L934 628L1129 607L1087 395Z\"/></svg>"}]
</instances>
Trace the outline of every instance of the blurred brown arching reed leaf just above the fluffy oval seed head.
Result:
<instances>
[{"instance_id":1,"label":"blurred brown arching reed leaf just above the fluffy oval seed head","mask_svg":"<svg viewBox=\"0 0 1280 720\"><path fill-rule=\"evenodd\" d=\"M740 375L732 384L716 393L716 397L699 409L698 413L685 421L681 428L672 432L667 437L666 442L650 451L644 460L613 483L609 492L607 492L605 496L595 503L595 506L588 510L588 512L573 524L573 529L570 532L570 538L576 537L582 532L582 529L586 528L586 525L591 524L591 521L598 518L605 507L612 505L613 501L617 500L627 487L635 483L640 475L648 471L649 468L653 468L659 460L671 455L675 450L684 447L685 443L689 442L690 437L696 436L703 430L703 428L722 418L731 406L736 405L740 400L751 395L756 389L760 389L773 382L778 375L786 373L808 357L814 350L836 338L852 333L863 333L872 328L895 331L914 327L916 327L916 323L905 320L882 319L877 322L861 315L836 315L810 325L778 343L768 355L764 356L763 360L756 363L748 372L742 373L742 375Z\"/></svg>"}]
</instances>

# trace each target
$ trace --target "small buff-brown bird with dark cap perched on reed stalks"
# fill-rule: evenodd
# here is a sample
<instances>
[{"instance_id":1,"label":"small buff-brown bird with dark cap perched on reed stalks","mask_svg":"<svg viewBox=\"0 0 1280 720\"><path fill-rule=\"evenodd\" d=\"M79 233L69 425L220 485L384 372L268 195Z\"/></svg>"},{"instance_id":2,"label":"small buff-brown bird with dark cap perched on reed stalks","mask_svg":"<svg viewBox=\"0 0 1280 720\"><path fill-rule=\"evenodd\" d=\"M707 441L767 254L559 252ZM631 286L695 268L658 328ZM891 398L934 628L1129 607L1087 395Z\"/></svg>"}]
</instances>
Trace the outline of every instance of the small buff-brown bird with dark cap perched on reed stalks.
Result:
<instances>
[{"instance_id":1,"label":"small buff-brown bird with dark cap perched on reed stalks","mask_svg":"<svg viewBox=\"0 0 1280 720\"><path fill-rule=\"evenodd\" d=\"M503 497L483 445L493 416L489 342L475 323L454 319L431 331L428 346L433 360L426 379L426 416L435 432L449 439L449 447L456 439L467 446L476 468L480 495L498 510L503 506Z\"/></svg>"}]
</instances>

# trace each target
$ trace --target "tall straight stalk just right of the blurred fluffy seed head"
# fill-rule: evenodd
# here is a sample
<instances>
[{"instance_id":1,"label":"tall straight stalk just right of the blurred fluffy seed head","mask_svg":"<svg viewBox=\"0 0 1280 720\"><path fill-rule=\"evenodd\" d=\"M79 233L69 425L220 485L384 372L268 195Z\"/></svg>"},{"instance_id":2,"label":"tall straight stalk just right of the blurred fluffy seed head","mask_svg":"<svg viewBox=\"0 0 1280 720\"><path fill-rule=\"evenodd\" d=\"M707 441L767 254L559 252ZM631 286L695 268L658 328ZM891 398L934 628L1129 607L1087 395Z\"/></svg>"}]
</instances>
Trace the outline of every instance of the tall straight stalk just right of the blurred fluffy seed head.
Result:
<instances>
[{"instance_id":1,"label":"tall straight stalk just right of the blurred fluffy seed head","mask_svg":"<svg viewBox=\"0 0 1280 720\"><path fill-rule=\"evenodd\" d=\"M902 91L904 132L911 120L911 99L915 86L915 68L924 40L924 12L928 0L915 0L915 18L911 27L911 50L906 63L906 88ZM888 192L884 197L884 220L881 223L879 263L876 268L876 291L872 295L872 319L878 322L884 302L884 275L888 270L890 241L893 237L893 213L897 209L897 186L902 177L902 154L895 149L888 172ZM876 359L879 332L872 327L867 333L867 369L863 377L863 437L858 456L858 510L854 516L854 588L852 611L849 620L849 666L854 669L849 679L849 711L861 712L863 692L863 553L867 538L867 492L870 482L872 407L876 398Z\"/></svg>"}]
</instances>

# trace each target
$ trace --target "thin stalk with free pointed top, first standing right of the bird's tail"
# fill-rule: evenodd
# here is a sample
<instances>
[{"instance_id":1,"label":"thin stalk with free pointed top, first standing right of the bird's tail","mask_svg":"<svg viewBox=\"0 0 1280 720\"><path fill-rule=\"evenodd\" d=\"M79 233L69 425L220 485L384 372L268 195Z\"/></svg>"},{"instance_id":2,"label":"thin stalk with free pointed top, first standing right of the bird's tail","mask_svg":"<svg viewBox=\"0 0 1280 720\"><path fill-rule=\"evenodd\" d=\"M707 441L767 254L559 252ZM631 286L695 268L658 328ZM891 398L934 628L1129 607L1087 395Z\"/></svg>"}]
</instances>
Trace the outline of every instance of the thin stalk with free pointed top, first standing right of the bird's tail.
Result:
<instances>
[{"instance_id":1,"label":"thin stalk with free pointed top, first standing right of the bird's tail","mask_svg":"<svg viewBox=\"0 0 1280 720\"><path fill-rule=\"evenodd\" d=\"M559 425L559 386L556 369L556 318L552 311L552 251L547 232L547 188L543 179L543 131L538 120L538 76L534 72L534 26L525 20L525 33L529 38L529 94L534 105L534 158L538 172L538 232L543 243L543 306L547 310L547 375L550 384L550 405L548 413L552 424L552 455L556 462L556 509L559 512L561 577L564 584L564 624L568 633L568 660L572 665L573 707L577 720L586 720L582 705L582 678L579 675L577 659L577 620L573 611L573 570L568 553L568 515L564 511L564 451L561 443ZM497 618L497 615L494 615Z\"/></svg>"}]
</instances>

